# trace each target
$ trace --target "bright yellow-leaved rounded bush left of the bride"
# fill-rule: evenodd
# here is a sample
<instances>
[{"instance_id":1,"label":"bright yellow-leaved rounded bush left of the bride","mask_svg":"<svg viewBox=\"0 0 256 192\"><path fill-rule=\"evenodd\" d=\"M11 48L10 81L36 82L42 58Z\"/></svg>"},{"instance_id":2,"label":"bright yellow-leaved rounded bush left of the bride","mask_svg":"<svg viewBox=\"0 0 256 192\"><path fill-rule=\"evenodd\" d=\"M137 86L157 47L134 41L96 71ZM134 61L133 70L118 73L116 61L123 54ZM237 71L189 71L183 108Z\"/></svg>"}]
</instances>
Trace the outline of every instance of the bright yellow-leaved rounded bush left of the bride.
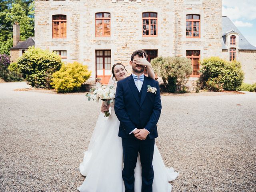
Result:
<instances>
[{"instance_id":1,"label":"bright yellow-leaved rounded bush left of the bride","mask_svg":"<svg viewBox=\"0 0 256 192\"><path fill-rule=\"evenodd\" d=\"M52 76L51 85L58 93L80 91L82 83L91 76L86 65L78 62L63 64Z\"/></svg>"}]
</instances>

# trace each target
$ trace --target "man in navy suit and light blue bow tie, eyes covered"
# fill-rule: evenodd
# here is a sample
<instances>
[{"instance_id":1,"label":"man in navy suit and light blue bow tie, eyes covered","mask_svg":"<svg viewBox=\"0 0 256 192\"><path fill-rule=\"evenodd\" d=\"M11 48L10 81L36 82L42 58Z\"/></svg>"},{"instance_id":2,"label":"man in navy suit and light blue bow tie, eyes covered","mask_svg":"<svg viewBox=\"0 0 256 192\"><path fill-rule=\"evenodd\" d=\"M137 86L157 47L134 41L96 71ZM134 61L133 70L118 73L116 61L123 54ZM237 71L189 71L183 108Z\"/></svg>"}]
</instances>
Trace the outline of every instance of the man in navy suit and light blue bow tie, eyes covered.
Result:
<instances>
[{"instance_id":1,"label":"man in navy suit and light blue bow tie, eyes covered","mask_svg":"<svg viewBox=\"0 0 256 192\"><path fill-rule=\"evenodd\" d=\"M161 113L160 89L157 81L144 76L144 66L133 60L146 60L143 50L134 51L130 66L132 75L117 83L115 113L120 120L118 136L122 138L124 168L122 177L125 191L134 192L134 169L138 153L142 167L142 192L152 192L152 166L156 124ZM149 92L148 85L156 88Z\"/></svg>"}]
</instances>

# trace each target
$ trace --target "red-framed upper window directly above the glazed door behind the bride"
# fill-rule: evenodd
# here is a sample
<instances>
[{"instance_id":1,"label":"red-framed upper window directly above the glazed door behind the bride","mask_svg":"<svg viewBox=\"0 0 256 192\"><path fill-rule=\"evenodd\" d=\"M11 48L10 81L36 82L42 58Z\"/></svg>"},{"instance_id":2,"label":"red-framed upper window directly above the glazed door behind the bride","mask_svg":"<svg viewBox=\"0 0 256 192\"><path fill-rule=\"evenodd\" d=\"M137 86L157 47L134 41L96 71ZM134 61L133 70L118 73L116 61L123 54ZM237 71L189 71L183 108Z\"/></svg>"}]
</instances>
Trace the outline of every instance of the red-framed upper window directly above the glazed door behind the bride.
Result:
<instances>
[{"instance_id":1,"label":"red-framed upper window directly above the glazed door behind the bride","mask_svg":"<svg viewBox=\"0 0 256 192\"><path fill-rule=\"evenodd\" d=\"M96 36L110 36L110 13L96 13Z\"/></svg>"}]
</instances>

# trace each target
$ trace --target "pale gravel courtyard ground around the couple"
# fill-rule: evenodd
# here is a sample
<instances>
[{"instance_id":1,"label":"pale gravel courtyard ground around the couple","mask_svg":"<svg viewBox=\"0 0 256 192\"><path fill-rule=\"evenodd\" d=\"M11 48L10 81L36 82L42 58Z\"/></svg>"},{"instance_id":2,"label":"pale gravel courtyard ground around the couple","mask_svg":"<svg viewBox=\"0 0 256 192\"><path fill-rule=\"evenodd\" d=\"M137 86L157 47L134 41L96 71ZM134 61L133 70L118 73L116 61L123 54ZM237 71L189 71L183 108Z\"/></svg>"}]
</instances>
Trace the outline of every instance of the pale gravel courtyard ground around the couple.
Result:
<instances>
[{"instance_id":1,"label":"pale gravel courtyard ground around the couple","mask_svg":"<svg viewBox=\"0 0 256 192\"><path fill-rule=\"evenodd\" d=\"M75 192L100 105L28 87L0 84L0 191ZM256 93L163 95L158 132L173 192L256 191Z\"/></svg>"}]
</instances>

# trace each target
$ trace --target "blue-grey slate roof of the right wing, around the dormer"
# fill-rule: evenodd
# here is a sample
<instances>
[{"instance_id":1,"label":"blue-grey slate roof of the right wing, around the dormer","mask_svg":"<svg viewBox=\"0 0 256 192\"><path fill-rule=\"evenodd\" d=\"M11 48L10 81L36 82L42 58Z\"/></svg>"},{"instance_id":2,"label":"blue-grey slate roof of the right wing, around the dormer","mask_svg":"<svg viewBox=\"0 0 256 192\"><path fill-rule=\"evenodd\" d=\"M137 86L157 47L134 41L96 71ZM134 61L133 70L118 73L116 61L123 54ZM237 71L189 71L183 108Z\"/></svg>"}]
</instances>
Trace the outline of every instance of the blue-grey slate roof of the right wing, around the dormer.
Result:
<instances>
[{"instance_id":1,"label":"blue-grey slate roof of the right wing, around the dormer","mask_svg":"<svg viewBox=\"0 0 256 192\"><path fill-rule=\"evenodd\" d=\"M236 32L239 35L239 47L240 50L256 50L256 47L251 45L243 34L238 30L234 23L227 16L222 16L222 49L228 49L225 45L226 34L229 32Z\"/></svg>"}]
</instances>

